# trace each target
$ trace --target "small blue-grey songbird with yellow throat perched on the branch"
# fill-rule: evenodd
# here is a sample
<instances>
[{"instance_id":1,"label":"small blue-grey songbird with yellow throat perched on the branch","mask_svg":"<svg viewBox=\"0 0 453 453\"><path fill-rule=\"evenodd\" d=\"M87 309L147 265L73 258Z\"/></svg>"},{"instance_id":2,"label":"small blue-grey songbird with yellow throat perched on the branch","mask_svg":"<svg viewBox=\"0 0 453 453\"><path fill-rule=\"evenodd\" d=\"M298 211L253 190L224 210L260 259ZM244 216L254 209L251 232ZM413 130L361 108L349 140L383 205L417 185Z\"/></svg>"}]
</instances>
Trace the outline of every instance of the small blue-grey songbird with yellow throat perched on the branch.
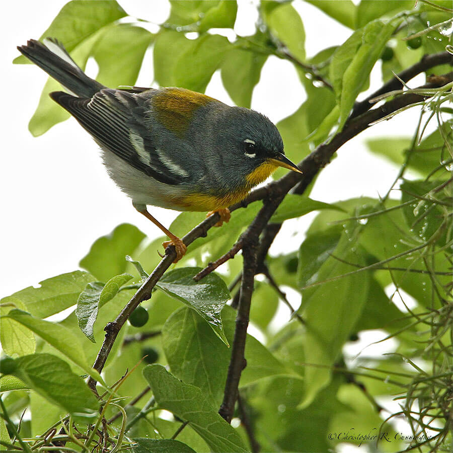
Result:
<instances>
[{"instance_id":1,"label":"small blue-grey songbird with yellow throat perched on the branch","mask_svg":"<svg viewBox=\"0 0 453 453\"><path fill-rule=\"evenodd\" d=\"M260 113L183 88L107 88L54 38L18 49L70 93L50 97L93 136L113 181L170 238L163 246L175 246L175 262L185 244L146 205L218 212L221 225L230 219L228 207L277 167L301 173L285 157L275 125Z\"/></svg>"}]
</instances>

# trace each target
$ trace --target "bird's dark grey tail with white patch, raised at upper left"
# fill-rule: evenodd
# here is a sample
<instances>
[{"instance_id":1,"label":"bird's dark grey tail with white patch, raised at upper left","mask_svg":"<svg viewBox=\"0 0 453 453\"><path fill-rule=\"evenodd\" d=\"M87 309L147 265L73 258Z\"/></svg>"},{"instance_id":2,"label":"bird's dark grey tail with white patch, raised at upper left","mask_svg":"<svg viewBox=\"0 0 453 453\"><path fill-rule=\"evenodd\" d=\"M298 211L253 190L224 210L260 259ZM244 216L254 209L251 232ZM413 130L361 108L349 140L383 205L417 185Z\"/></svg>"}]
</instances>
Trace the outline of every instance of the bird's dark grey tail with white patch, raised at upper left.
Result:
<instances>
[{"instance_id":1,"label":"bird's dark grey tail with white patch, raised at upper left","mask_svg":"<svg viewBox=\"0 0 453 453\"><path fill-rule=\"evenodd\" d=\"M71 93L91 98L104 85L88 77L87 74L69 56L63 44L54 38L46 38L44 44L30 39L27 45L18 46L18 50L33 63L44 69Z\"/></svg>"}]
</instances>

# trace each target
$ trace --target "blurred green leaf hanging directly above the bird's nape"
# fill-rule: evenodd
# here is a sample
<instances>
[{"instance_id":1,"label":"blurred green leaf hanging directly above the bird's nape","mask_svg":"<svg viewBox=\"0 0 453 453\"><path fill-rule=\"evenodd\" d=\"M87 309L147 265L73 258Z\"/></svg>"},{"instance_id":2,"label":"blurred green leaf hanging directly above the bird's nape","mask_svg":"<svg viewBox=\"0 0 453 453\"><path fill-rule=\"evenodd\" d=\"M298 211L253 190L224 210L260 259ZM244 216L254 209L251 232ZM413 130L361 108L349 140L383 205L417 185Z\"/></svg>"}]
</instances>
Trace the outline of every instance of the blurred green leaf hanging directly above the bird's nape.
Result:
<instances>
[{"instance_id":1,"label":"blurred green leaf hanging directly above the bird's nape","mask_svg":"<svg viewBox=\"0 0 453 453\"><path fill-rule=\"evenodd\" d=\"M233 102L250 108L252 93L260 80L267 55L244 49L230 50L221 66L222 84Z\"/></svg>"}]
</instances>

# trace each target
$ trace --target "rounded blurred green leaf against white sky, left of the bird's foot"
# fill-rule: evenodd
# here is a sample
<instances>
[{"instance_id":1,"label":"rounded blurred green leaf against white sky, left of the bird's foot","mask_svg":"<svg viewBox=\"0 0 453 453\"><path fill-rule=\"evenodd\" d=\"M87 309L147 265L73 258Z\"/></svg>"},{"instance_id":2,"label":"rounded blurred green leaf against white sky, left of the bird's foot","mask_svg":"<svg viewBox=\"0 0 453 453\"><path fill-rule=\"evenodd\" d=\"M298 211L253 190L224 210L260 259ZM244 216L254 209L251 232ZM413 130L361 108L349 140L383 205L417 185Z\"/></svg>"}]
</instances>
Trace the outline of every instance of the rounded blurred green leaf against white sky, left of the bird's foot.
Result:
<instances>
[{"instance_id":1,"label":"rounded blurred green leaf against white sky, left of the bird's foot","mask_svg":"<svg viewBox=\"0 0 453 453\"><path fill-rule=\"evenodd\" d=\"M112 233L95 241L80 266L89 270L99 281L107 281L126 270L125 256L133 255L144 237L136 226L122 223Z\"/></svg>"}]
</instances>

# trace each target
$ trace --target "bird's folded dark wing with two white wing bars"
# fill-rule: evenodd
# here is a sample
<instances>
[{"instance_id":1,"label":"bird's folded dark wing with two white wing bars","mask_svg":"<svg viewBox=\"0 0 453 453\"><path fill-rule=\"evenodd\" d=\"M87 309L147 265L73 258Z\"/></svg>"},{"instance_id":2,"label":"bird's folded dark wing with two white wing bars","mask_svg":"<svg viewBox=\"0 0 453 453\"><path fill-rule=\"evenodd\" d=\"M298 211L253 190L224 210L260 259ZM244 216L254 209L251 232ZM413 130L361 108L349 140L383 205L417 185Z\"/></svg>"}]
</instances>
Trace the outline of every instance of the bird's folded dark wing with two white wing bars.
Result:
<instances>
[{"instance_id":1,"label":"bird's folded dark wing with two white wing bars","mask_svg":"<svg viewBox=\"0 0 453 453\"><path fill-rule=\"evenodd\" d=\"M185 179L161 162L152 137L139 120L145 116L144 107L132 94L104 89L91 99L63 92L54 92L50 96L77 119L100 145L135 169L165 184L176 185ZM136 146L132 143L134 140Z\"/></svg>"}]
</instances>

